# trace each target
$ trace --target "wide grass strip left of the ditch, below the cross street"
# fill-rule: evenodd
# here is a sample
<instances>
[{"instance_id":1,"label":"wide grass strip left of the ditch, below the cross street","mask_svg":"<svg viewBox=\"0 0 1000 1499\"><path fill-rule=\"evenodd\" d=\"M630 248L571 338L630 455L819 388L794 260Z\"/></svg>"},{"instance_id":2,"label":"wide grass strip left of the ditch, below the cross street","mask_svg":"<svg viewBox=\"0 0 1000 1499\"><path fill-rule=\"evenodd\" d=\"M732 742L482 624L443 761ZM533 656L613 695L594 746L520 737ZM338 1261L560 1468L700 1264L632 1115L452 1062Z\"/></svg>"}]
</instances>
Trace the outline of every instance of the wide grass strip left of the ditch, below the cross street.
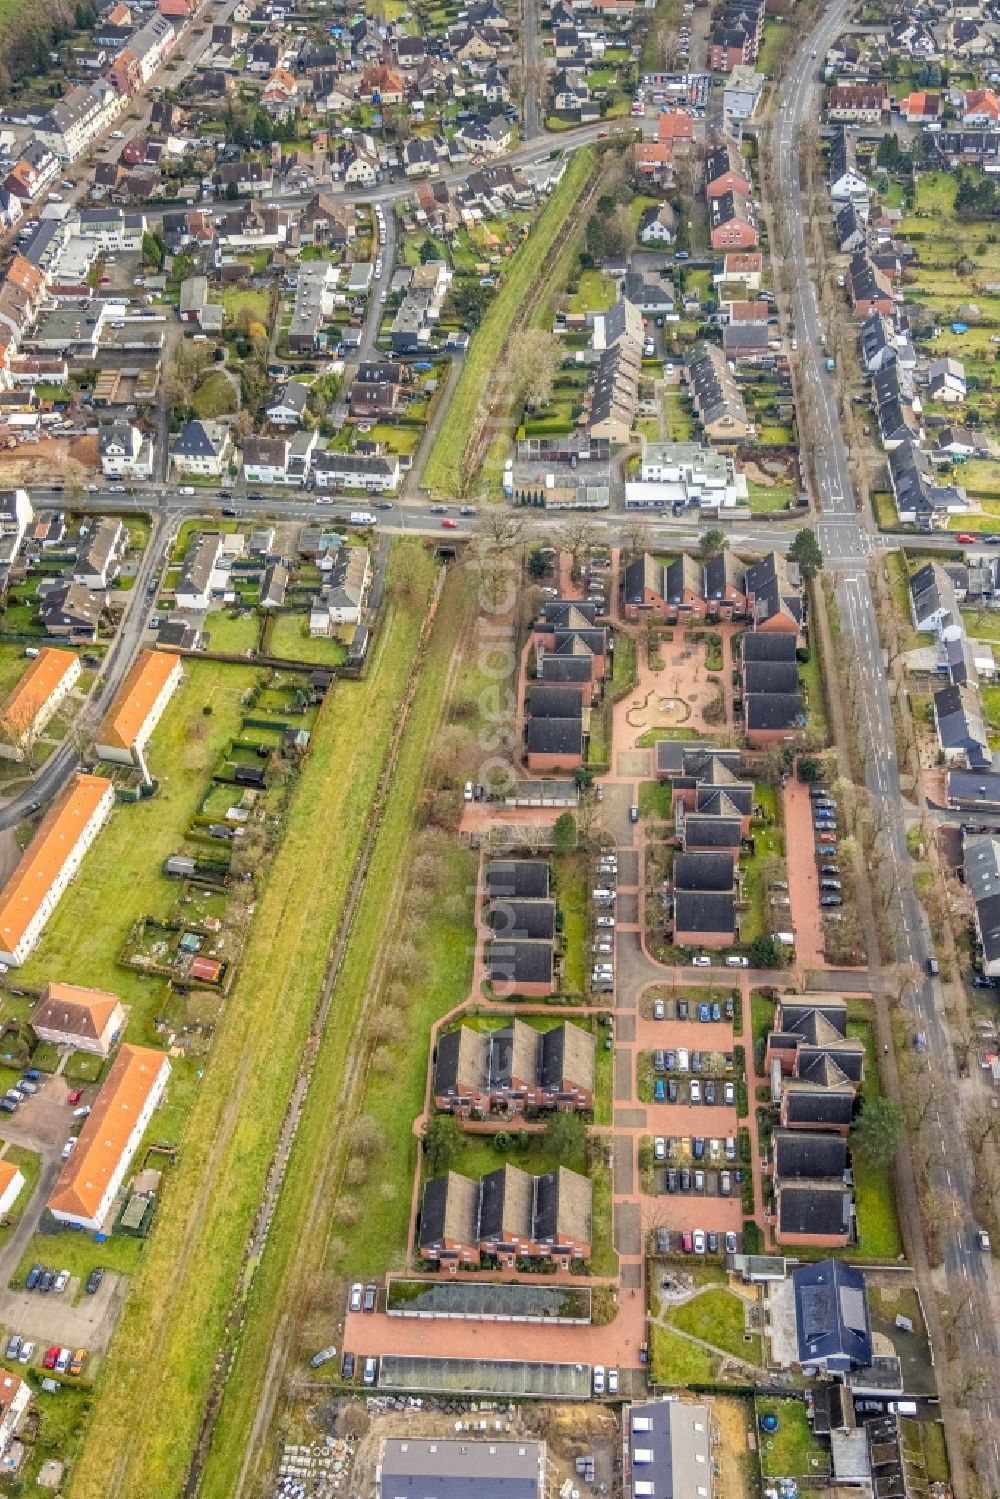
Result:
<instances>
[{"instance_id":1,"label":"wide grass strip left of the ditch, below the cross street","mask_svg":"<svg viewBox=\"0 0 1000 1499\"><path fill-rule=\"evenodd\" d=\"M432 559L421 552L414 571L409 598L388 606L369 676L337 684L316 721L180 1160L111 1345L70 1499L166 1499L181 1490L417 649Z\"/></svg>"}]
</instances>

